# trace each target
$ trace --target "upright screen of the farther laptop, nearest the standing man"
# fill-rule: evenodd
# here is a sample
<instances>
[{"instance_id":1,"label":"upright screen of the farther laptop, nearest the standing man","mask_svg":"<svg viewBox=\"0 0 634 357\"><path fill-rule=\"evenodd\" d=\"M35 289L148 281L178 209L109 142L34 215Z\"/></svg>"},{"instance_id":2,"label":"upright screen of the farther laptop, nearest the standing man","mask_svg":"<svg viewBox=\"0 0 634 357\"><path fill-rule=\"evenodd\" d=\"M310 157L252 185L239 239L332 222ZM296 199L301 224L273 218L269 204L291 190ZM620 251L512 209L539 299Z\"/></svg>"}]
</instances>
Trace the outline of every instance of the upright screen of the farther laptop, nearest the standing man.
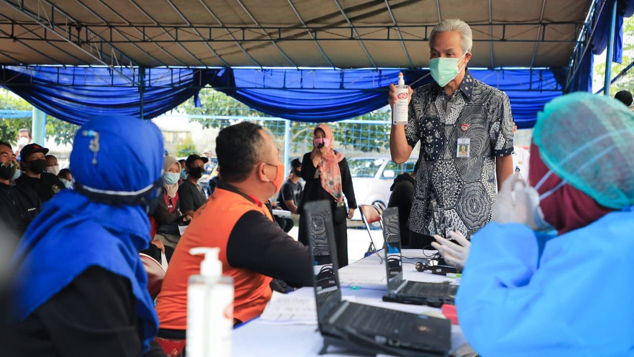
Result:
<instances>
[{"instance_id":1,"label":"upright screen of the farther laptop, nearest the standing man","mask_svg":"<svg viewBox=\"0 0 634 357\"><path fill-rule=\"evenodd\" d=\"M382 213L383 238L385 240L385 270L387 289L396 290L403 282L403 259L401 258L401 228L398 207L385 209Z\"/></svg>"}]
</instances>

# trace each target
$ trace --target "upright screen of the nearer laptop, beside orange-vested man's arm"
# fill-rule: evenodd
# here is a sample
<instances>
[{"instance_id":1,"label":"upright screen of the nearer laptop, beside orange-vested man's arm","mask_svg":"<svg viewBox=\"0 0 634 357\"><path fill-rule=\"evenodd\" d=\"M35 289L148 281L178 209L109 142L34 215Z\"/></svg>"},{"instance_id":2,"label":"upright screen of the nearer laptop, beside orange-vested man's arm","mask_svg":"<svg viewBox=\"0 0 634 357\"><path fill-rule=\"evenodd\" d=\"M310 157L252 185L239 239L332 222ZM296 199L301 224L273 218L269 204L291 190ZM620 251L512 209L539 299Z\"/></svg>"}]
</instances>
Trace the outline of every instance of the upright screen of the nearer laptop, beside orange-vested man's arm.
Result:
<instances>
[{"instance_id":1,"label":"upright screen of the nearer laptop, beside orange-vested man's arm","mask_svg":"<svg viewBox=\"0 0 634 357\"><path fill-rule=\"evenodd\" d=\"M339 274L337 274L339 270L337 247L335 246L330 202L307 202L304 205L304 214L301 218L304 220L302 225L306 227L304 229L307 231L313 262L316 262L315 256L321 256L321 252L324 250L330 252L330 257L332 257L332 264L313 267L317 320L321 328L321 325L327 322L333 309L341 302Z\"/></svg>"}]
</instances>

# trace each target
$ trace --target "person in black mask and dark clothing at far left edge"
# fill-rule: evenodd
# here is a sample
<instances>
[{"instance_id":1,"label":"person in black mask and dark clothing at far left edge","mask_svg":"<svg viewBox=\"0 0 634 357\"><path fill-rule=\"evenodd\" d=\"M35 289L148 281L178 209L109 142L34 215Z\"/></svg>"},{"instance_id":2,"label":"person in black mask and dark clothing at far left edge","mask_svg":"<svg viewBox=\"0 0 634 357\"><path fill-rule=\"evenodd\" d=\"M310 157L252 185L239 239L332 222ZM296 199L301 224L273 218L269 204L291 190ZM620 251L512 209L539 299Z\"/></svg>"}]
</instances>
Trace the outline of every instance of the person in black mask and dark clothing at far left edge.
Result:
<instances>
[{"instance_id":1,"label":"person in black mask and dark clothing at far left edge","mask_svg":"<svg viewBox=\"0 0 634 357\"><path fill-rule=\"evenodd\" d=\"M40 200L32 190L11 185L18 168L13 148L0 141L0 226L10 237L22 237L40 211Z\"/></svg>"}]
</instances>

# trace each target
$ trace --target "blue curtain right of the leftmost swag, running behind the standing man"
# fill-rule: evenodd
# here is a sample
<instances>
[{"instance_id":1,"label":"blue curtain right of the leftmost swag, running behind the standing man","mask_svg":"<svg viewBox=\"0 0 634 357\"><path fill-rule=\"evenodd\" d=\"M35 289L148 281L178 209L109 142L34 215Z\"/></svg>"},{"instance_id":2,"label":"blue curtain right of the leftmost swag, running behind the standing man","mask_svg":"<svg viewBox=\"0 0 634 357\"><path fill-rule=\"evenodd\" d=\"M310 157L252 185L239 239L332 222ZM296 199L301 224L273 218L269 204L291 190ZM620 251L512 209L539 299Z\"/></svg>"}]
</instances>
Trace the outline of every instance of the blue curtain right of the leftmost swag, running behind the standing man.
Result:
<instances>
[{"instance_id":1,"label":"blue curtain right of the leftmost swag, running behind the standing man","mask_svg":"<svg viewBox=\"0 0 634 357\"><path fill-rule=\"evenodd\" d=\"M562 93L552 70L470 70L476 79L507 93L520 128L533 127L537 112ZM234 68L214 77L212 87L275 117L329 122L366 114L387 105L399 70L251 70ZM433 81L429 70L403 70L413 88ZM427 75L427 77L425 77ZM222 89L228 87L230 89Z\"/></svg>"}]
</instances>

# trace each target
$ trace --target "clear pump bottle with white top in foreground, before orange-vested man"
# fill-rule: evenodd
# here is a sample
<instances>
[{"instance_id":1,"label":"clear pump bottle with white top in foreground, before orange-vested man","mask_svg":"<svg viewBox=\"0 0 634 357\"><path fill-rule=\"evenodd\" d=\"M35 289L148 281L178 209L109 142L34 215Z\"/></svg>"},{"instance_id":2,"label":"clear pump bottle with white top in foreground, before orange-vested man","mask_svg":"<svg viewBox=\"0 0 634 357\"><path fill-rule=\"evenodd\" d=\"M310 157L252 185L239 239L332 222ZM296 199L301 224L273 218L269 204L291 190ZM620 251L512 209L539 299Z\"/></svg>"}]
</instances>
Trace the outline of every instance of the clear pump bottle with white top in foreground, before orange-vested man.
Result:
<instances>
[{"instance_id":1,"label":"clear pump bottle with white top in foreground, before orange-vested man","mask_svg":"<svg viewBox=\"0 0 634 357\"><path fill-rule=\"evenodd\" d=\"M205 254L200 275L192 275L187 287L188 357L230 357L233 330L233 279L223 276L219 248L193 248L191 255Z\"/></svg>"}]
</instances>

